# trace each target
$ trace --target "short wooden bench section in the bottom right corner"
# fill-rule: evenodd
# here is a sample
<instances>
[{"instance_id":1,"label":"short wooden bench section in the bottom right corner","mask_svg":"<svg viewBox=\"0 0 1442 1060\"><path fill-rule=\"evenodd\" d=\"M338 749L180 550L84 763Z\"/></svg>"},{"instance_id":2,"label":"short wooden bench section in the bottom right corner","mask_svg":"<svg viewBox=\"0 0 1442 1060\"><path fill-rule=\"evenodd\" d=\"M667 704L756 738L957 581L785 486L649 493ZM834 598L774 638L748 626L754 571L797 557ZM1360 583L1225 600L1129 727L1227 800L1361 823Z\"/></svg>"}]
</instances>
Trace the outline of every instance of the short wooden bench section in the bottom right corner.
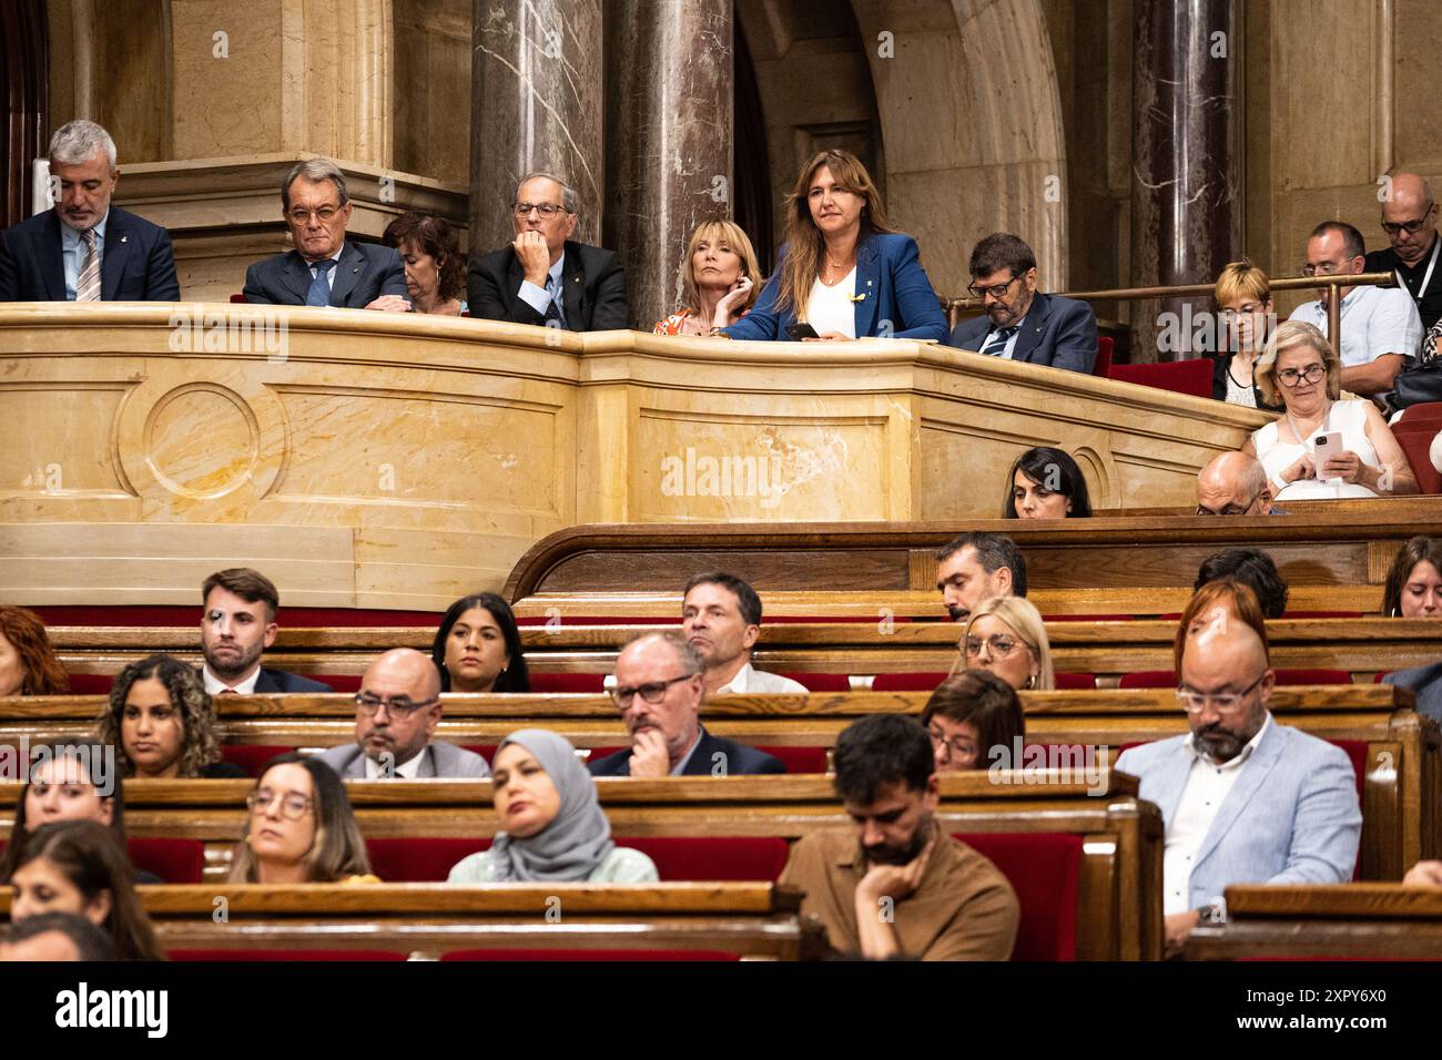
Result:
<instances>
[{"instance_id":1,"label":"short wooden bench section in the bottom right corner","mask_svg":"<svg viewBox=\"0 0 1442 1060\"><path fill-rule=\"evenodd\" d=\"M1187 959L1442 960L1439 887L1227 887L1226 901L1227 923L1194 929Z\"/></svg>"}]
</instances>

